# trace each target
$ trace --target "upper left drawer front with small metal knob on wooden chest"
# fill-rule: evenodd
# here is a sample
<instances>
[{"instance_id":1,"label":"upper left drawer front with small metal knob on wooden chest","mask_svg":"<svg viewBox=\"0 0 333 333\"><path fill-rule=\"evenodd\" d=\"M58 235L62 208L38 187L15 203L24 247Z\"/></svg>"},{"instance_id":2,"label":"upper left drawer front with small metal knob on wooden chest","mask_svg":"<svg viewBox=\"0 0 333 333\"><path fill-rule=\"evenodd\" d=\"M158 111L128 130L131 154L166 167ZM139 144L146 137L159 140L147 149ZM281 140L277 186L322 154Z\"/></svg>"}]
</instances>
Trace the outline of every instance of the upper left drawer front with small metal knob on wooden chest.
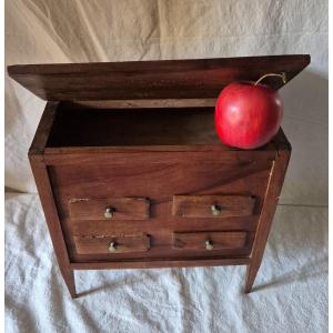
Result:
<instances>
[{"instance_id":1,"label":"upper left drawer front with small metal knob on wooden chest","mask_svg":"<svg viewBox=\"0 0 333 333\"><path fill-rule=\"evenodd\" d=\"M69 200L71 220L145 220L150 202L145 198L81 198Z\"/></svg>"}]
</instances>

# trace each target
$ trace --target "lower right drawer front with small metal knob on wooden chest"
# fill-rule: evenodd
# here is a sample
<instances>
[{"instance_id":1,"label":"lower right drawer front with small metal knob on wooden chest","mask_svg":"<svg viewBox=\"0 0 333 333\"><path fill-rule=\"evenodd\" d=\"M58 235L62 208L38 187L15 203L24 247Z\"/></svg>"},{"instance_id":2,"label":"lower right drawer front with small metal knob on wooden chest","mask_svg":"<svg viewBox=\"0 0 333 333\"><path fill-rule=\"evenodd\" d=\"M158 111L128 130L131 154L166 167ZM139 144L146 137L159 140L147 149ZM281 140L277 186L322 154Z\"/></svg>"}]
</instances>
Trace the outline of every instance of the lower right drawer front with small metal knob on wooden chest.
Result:
<instances>
[{"instance_id":1,"label":"lower right drawer front with small metal knob on wooden chest","mask_svg":"<svg viewBox=\"0 0 333 333\"><path fill-rule=\"evenodd\" d=\"M241 249L246 243L246 232L213 231L213 232L175 232L173 249L175 250L225 250Z\"/></svg>"}]
</instances>

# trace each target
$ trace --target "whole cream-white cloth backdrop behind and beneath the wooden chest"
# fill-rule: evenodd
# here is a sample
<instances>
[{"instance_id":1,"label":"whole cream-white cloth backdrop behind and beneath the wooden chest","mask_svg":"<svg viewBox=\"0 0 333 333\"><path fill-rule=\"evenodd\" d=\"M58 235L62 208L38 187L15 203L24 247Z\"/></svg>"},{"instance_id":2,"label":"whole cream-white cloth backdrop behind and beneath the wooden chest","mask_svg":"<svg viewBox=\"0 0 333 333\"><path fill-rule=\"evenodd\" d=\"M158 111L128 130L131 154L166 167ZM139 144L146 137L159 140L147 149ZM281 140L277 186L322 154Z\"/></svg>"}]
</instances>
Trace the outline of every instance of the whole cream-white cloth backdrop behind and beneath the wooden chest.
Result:
<instances>
[{"instance_id":1,"label":"whole cream-white cloth backdrop behind and beneath the wooden chest","mask_svg":"<svg viewBox=\"0 0 333 333\"><path fill-rule=\"evenodd\" d=\"M283 276L286 273L285 270L297 271L300 268L296 262L297 256L303 258L304 261L301 271L297 271L295 275L290 273L286 278L284 276L286 283L283 283L283 286L278 283L276 286L272 285L268 291L263 290L250 299L244 299L238 292L241 279L238 272L241 272L242 269L175 270L169 271L167 275L163 275L162 271L161 273L157 271L113 272L104 275L89 273L87 276L93 280L101 276L101 280L97 280L95 283L90 283L89 278L84 278L85 275L80 273L79 282L82 281L82 285L83 281L92 286L98 285L98 281L102 284L107 281L105 276L109 276L108 281L111 283L111 287L97 292L95 296L87 296L79 301L80 307L78 304L71 304L63 295L63 286L54 276L54 272L58 272L57 265L50 266L50 260L54 261L54 258L50 252L49 236L46 234L37 196L34 194L11 195L7 200L6 221L9 331L23 332L24 327L29 331L28 327L33 325L38 331L39 329L47 330L47 324L54 331L59 327L64 331L70 327L72 331L70 319L71 313L74 313L74 317L85 317L85 324L92 325L92 329L87 327L87 331L90 332L93 331L93 327L99 327L101 323L101 319L95 313L95 311L100 311L100 315L104 316L104 320L108 317L110 325L114 320L114 327L118 325L123 332L127 332L131 322L133 325L135 323L133 327L137 327L140 322L142 324L140 330L149 332L157 327L155 321L160 323L159 327L162 332L170 332L170 330L190 332L195 331L191 326L193 325L191 322L195 319L199 321L196 316L205 305L208 307L202 316L208 317L202 317L202 320L218 321L216 325L219 326L223 322L223 315L228 315L229 326L225 326L225 331L244 332L244 327L253 331L255 325L264 331L266 323L272 327L270 329L272 332L274 329L281 332L285 327L287 327L284 330L286 332L300 332L299 327L302 327L303 332L306 330L313 332L310 324L305 325L304 322L302 324L297 320L292 322L293 316L304 320L311 315L311 311L312 321L324 320L320 326L321 330L324 330L326 276L325 271L322 272L320 268L326 264L324 254L326 215L322 214L322 211L325 211L324 206L327 204L327 1L6 1L6 64L284 53L310 53L312 63L281 90L285 105L283 129L293 145L293 152L280 201L283 206L279 209L279 218L275 219L278 225L274 226L280 230L281 239L273 244L276 246L273 249L274 251L271 249L272 244L270 244L271 250L266 251L272 258L270 261L266 253L268 258L264 262L266 271L264 272L268 275L262 275L261 282ZM43 105L44 102L6 78L6 185L14 191L36 192L27 151ZM30 220L31 218L33 221ZM319 226L317 231L314 230L315 226ZM31 233L30 228L33 228L36 233ZM312 231L317 233L309 243L294 246L293 238L311 238ZM286 236L286 241L280 243L281 240L284 240L283 234ZM32 241L30 239L32 236L33 242L27 244L28 240ZM273 234L272 236L275 236L276 240L278 235ZM43 240L46 243L41 243ZM316 264L313 258L309 259L310 264L306 266L305 258L310 251L307 245L311 248L311 242L317 246L315 251L321 252L317 255L322 261ZM302 243L301 239L300 243ZM23 253L18 252L16 246L19 246ZM46 253L36 252L43 251L41 246L47 250ZM285 253L279 254L281 251L289 253L286 259L284 258ZM26 255L30 255L31 261L23 261ZM280 255L281 261L274 263ZM287 261L287 255L295 260L294 268L292 260ZM287 261L286 268L284 268L282 259ZM270 265L272 266L270 268ZM37 268L39 269L37 270ZM315 274L311 273L313 268L315 268ZM321 273L323 276L320 276ZM196 284L194 286L186 284L183 275L190 281L195 280ZM19 280L18 276L20 276ZM130 282L122 290L121 279L123 276L125 282ZM232 276L235 278L235 281L231 280ZM33 289L30 285L31 279L33 279ZM144 285L144 279L149 279L148 285ZM220 285L216 284L219 279L224 291L220 290ZM313 280L313 284L307 285L309 279ZM132 280L134 282L131 282ZM119 285L115 285L117 283ZM154 283L157 284L154 285ZM184 287L182 284L186 286ZM228 284L229 287L226 287ZM287 286L287 284L290 285ZM145 287L152 290L145 290ZM289 293L293 287L297 290L301 305L289 299ZM313 290L309 292L310 287L321 294L320 302L316 297L310 300L312 295L314 296ZM145 300L144 295L151 297L153 290L155 292L154 300ZM50 291L56 294L51 295ZM280 292L282 295L279 295ZM283 294L285 292L286 294ZM142 296L140 302L143 309L135 307L138 304L135 303L134 306L129 301L133 297L135 302L139 302L137 293ZM212 300L201 299L204 296L201 293L211 294ZM270 299L271 295L272 299ZM30 302L26 302L24 297L29 297ZM42 302L39 297L46 297L46 301L50 302L49 305L38 306L38 302ZM112 303L108 303L109 301L100 303L101 306L108 305L108 309L98 310L97 300L99 297L114 297L118 306L120 306L121 297L124 297L127 303L124 306L120 306L124 312L119 312L117 315L114 311L119 310L110 310ZM171 303L168 303L165 297L170 297L168 300ZM196 304L198 297L200 302L204 303ZM37 303L33 303L33 300ZM167 303L164 304L164 302ZM184 302L190 303L186 305ZM230 309L228 306L230 302L235 307L231 306ZM270 305L264 306L261 302ZM283 302L287 302L287 305ZM161 313L158 313L157 304L162 306ZM236 306L241 306L240 312L236 311ZM260 319L259 313L258 316L252 315L252 306L259 306L256 311L266 311L263 317ZM285 311L285 306L289 306L290 311ZM144 309L153 313L144 314ZM252 309L252 314L250 309ZM276 309L281 309L281 312L275 312ZM178 310L190 311L192 314L190 316L184 313L180 314ZM94 312L91 313L91 311ZM24 313L24 315L19 313ZM162 315L164 315L163 319ZM278 325L279 315L286 321L283 326ZM124 317L128 324L120 325L120 317ZM56 319L60 320L61 324L56 322ZM169 325L167 324L168 320L171 322ZM238 326L236 321L240 321L243 326ZM307 321L307 323L310 322ZM209 332L216 330L218 326L212 323L211 326L199 325L198 327L205 327ZM104 330L107 329L104 327ZM316 330L316 332L322 332L321 330Z\"/></svg>"}]
</instances>

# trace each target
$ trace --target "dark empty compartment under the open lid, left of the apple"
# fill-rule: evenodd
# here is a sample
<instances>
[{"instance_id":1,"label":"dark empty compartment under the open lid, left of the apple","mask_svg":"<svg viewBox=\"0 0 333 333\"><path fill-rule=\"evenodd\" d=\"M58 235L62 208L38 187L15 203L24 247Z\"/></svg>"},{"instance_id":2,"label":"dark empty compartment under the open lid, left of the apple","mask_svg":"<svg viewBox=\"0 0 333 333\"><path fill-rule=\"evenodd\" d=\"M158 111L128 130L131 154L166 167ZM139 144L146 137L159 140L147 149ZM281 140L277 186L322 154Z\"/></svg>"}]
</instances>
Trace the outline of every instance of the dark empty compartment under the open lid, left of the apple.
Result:
<instances>
[{"instance_id":1,"label":"dark empty compartment under the open lid, left of the apple","mask_svg":"<svg viewBox=\"0 0 333 333\"><path fill-rule=\"evenodd\" d=\"M214 108L75 109L60 104L47 147L220 143Z\"/></svg>"}]
</instances>

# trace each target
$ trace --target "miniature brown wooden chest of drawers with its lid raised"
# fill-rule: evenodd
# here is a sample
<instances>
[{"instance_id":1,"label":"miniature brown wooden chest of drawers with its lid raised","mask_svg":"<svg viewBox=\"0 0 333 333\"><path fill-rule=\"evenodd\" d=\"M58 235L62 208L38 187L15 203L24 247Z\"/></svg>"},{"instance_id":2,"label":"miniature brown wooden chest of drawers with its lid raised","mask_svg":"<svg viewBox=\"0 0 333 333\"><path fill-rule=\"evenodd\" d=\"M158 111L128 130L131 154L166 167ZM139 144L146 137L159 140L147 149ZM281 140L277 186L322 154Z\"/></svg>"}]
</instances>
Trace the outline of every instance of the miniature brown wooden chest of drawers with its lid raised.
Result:
<instances>
[{"instance_id":1,"label":"miniature brown wooden chest of drawers with its lid raised","mask_svg":"<svg viewBox=\"0 0 333 333\"><path fill-rule=\"evenodd\" d=\"M291 147L282 130L238 150L214 130L232 81L283 72L309 56L11 65L48 101L29 158L64 282L74 270L260 268ZM266 84L279 89L276 78Z\"/></svg>"}]
</instances>

